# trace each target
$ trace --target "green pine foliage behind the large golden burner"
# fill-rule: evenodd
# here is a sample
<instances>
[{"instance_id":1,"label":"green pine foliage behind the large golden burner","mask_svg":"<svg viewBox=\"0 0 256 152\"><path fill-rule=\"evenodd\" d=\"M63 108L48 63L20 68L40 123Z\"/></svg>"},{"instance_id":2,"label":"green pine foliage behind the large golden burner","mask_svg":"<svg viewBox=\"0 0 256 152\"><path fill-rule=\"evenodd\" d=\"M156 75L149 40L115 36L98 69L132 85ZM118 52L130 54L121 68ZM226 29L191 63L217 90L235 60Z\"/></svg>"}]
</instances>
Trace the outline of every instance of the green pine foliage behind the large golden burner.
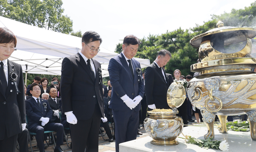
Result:
<instances>
[{"instance_id":1,"label":"green pine foliage behind the large golden burner","mask_svg":"<svg viewBox=\"0 0 256 152\"><path fill-rule=\"evenodd\" d=\"M171 52L172 58L165 66L166 73L173 74L174 70L181 70L181 74L186 76L194 72L190 71L190 66L195 64L198 59L198 48L190 45L190 40L200 34L216 28L219 20L224 22L224 26L234 27L256 27L256 1L251 6L244 9L232 9L231 13L212 15L212 19L204 22L203 25L196 24L195 27L183 30L178 28L174 31L142 38L142 44L135 57L149 59L150 63L155 60L158 51L166 49ZM256 45L256 39L252 39ZM116 52L122 51L122 44L116 45Z\"/></svg>"}]
</instances>

